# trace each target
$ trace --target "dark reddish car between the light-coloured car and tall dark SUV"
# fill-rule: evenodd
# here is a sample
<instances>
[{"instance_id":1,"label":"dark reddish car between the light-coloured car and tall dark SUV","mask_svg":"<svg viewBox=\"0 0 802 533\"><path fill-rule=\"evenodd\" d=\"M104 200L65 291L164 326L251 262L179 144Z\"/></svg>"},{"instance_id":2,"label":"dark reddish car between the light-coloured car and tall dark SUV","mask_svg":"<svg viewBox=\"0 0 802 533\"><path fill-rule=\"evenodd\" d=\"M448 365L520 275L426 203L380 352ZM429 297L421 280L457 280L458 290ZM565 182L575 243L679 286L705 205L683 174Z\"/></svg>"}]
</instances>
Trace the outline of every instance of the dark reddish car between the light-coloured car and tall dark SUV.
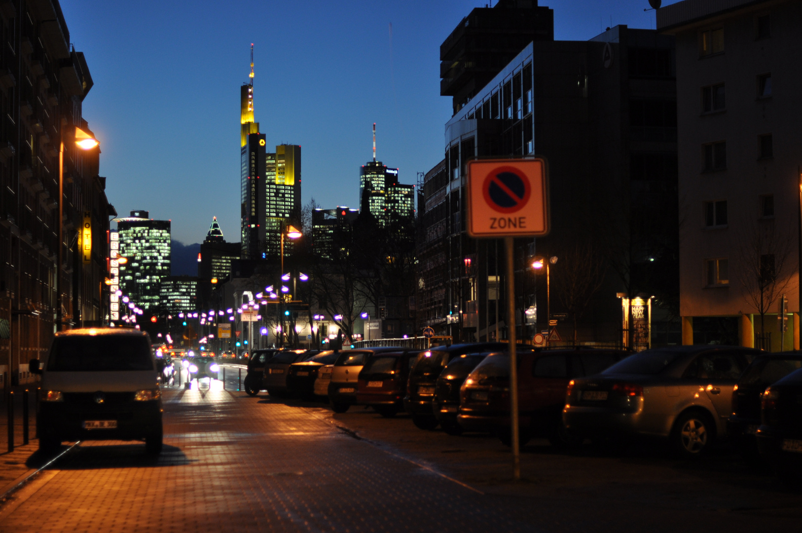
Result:
<instances>
[{"instance_id":1,"label":"dark reddish car between the light-coloured car and tall dark SUV","mask_svg":"<svg viewBox=\"0 0 802 533\"><path fill-rule=\"evenodd\" d=\"M402 350L369 356L359 371L356 403L371 405L383 417L395 417L403 409L409 366L418 353L418 350Z\"/></svg>"}]
</instances>

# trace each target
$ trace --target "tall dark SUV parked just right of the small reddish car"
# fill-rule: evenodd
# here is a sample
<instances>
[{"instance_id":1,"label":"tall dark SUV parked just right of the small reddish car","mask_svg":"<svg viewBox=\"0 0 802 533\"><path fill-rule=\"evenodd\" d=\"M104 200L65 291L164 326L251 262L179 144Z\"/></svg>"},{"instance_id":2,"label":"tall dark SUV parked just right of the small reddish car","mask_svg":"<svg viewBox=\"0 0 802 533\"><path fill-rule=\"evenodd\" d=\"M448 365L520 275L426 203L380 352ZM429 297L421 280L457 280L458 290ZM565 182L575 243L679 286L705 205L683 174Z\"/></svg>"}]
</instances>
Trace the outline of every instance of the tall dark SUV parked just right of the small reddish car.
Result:
<instances>
[{"instance_id":1,"label":"tall dark SUV parked just right of the small reddish car","mask_svg":"<svg viewBox=\"0 0 802 533\"><path fill-rule=\"evenodd\" d=\"M403 399L403 408L411 414L412 422L420 429L435 429L439 424L432 413L431 401L435 397L437 378L452 359L466 353L495 352L506 348L506 343L468 343L419 352L409 374L407 396Z\"/></svg>"}]
</instances>

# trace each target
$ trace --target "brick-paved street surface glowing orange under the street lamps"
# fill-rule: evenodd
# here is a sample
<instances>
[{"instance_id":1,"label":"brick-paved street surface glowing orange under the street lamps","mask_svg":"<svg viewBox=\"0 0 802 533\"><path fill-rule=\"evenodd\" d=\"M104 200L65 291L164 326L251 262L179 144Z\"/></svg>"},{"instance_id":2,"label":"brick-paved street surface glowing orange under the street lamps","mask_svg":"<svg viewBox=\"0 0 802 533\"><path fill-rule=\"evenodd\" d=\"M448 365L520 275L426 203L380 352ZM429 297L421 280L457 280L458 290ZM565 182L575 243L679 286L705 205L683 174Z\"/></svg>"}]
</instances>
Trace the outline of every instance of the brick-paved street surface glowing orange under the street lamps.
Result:
<instances>
[{"instance_id":1,"label":"brick-paved street surface glowing orange under the street lamps","mask_svg":"<svg viewBox=\"0 0 802 533\"><path fill-rule=\"evenodd\" d=\"M220 382L164 393L165 449L84 442L0 506L0 531L796 531L802 494L727 448L678 462L416 429ZM41 458L31 457L30 462Z\"/></svg>"}]
</instances>

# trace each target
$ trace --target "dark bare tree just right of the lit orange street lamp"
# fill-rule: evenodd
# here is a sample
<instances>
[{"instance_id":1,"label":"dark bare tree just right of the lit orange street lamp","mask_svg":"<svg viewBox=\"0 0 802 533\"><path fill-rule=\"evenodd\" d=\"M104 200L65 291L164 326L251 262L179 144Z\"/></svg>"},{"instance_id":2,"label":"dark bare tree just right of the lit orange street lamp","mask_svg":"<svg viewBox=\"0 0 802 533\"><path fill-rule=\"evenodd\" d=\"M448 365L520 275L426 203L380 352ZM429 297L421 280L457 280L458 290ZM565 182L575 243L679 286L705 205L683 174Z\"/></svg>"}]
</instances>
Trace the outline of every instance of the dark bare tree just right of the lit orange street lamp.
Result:
<instances>
[{"instance_id":1,"label":"dark bare tree just right of the lit orange street lamp","mask_svg":"<svg viewBox=\"0 0 802 533\"><path fill-rule=\"evenodd\" d=\"M573 343L577 343L577 321L585 314L590 299L602 288L607 264L591 243L577 243L560 255L560 267L553 270L557 295L573 319Z\"/></svg>"}]
</instances>

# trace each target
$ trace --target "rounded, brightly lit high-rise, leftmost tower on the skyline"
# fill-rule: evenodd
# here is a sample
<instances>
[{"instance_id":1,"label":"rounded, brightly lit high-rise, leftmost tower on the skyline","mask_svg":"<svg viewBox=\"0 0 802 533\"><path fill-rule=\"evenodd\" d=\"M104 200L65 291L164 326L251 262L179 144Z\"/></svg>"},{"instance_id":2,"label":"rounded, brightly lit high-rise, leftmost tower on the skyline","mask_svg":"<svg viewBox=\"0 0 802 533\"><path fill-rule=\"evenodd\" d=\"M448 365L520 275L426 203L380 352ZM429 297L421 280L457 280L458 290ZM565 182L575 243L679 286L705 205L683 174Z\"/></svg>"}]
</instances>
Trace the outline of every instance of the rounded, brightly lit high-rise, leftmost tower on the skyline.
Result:
<instances>
[{"instance_id":1,"label":"rounded, brightly lit high-rise, leftmost tower on the skyline","mask_svg":"<svg viewBox=\"0 0 802 533\"><path fill-rule=\"evenodd\" d=\"M170 221L152 220L148 211L132 211L115 218L119 254L127 262L119 266L119 288L144 310L158 307L161 279L170 275Z\"/></svg>"}]
</instances>

